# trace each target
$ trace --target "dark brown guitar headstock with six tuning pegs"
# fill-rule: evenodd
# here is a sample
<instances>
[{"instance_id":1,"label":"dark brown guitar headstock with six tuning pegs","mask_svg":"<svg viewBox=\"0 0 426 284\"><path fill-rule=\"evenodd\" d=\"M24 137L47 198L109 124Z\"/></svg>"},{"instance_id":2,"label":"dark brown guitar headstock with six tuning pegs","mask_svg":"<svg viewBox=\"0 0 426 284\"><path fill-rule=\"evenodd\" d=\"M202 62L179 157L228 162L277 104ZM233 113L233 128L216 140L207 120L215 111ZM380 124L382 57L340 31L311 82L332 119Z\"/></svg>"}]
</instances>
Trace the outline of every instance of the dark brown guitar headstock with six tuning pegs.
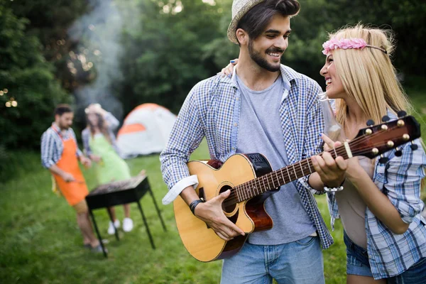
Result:
<instances>
[{"instance_id":1,"label":"dark brown guitar headstock with six tuning pegs","mask_svg":"<svg viewBox=\"0 0 426 284\"><path fill-rule=\"evenodd\" d=\"M368 121L368 127L361 129L349 142L352 154L374 158L396 148L395 155L401 155L402 152L398 146L420 138L421 134L420 124L413 116L405 116L405 111L400 111L398 116L401 117L393 121L389 121L388 116L383 116L382 120L385 122L378 125L373 125L373 121ZM415 150L417 145L413 144L411 148Z\"/></svg>"}]
</instances>

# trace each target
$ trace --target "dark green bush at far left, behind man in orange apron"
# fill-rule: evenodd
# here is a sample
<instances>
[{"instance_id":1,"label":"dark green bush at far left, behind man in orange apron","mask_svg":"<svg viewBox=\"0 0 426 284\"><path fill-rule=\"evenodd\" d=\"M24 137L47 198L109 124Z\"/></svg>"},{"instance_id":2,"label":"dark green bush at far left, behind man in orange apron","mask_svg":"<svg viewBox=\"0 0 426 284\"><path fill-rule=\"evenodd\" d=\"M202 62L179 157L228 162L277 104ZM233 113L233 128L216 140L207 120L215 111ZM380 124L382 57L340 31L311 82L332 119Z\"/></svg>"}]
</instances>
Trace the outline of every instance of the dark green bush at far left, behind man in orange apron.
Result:
<instances>
[{"instance_id":1,"label":"dark green bush at far left, behind man in orange apron","mask_svg":"<svg viewBox=\"0 0 426 284\"><path fill-rule=\"evenodd\" d=\"M0 6L0 147L34 148L50 125L53 109L69 96L54 79L40 42L25 33L28 21ZM0 170L5 166L0 157Z\"/></svg>"}]
</instances>

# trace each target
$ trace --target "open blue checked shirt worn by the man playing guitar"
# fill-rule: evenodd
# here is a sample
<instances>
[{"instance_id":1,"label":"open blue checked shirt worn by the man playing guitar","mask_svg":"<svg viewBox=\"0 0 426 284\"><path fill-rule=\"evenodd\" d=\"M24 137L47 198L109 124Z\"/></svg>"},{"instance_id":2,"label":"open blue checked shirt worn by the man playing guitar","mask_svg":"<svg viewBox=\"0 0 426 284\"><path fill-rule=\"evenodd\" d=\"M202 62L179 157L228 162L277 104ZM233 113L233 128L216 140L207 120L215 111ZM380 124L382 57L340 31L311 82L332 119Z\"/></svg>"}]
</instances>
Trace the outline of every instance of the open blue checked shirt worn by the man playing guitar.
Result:
<instances>
[{"instance_id":1,"label":"open blue checked shirt worn by the man playing guitar","mask_svg":"<svg viewBox=\"0 0 426 284\"><path fill-rule=\"evenodd\" d=\"M320 135L324 128L317 94L320 86L312 79L281 65L281 75L290 82L280 105L280 120L288 155L288 163L296 163L318 153ZM233 73L235 76L235 72ZM207 139L210 158L224 162L236 153L238 137L240 92L235 78L216 75L199 82L185 99L170 134L168 146L160 155L163 179L172 189L188 178L190 154ZM323 249L332 243L317 202L306 185L306 178L295 181L303 207L315 224ZM169 202L170 200L168 200ZM285 202L285 200L283 200Z\"/></svg>"}]
</instances>

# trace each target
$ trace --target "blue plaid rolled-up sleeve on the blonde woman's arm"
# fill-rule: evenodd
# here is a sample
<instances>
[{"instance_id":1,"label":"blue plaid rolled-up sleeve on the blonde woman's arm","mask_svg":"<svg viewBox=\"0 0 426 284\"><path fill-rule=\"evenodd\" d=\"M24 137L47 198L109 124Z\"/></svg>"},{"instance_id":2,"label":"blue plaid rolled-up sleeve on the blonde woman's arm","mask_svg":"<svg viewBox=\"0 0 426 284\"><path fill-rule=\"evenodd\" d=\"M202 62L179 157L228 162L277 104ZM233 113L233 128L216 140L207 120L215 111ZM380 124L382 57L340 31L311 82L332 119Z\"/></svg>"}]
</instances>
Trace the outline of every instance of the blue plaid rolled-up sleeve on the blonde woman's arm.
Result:
<instances>
[{"instance_id":1,"label":"blue plaid rolled-up sleeve on the blonde woman's arm","mask_svg":"<svg viewBox=\"0 0 426 284\"><path fill-rule=\"evenodd\" d=\"M417 150L412 151L406 144L403 155L389 160L383 185L389 200L407 224L413 222L425 206L420 199L420 190L421 180L425 178L426 155L419 139L415 140L415 144Z\"/></svg>"}]
</instances>

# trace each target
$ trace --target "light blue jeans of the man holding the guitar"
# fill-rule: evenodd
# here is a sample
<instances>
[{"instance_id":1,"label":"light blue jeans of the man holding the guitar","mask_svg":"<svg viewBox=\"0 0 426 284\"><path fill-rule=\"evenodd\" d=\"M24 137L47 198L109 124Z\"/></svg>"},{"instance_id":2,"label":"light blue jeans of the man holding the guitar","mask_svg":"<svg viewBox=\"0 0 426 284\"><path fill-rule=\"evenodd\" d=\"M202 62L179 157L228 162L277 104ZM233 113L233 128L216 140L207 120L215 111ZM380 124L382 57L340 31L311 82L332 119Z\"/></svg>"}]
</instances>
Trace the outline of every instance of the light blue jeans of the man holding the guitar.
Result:
<instances>
[{"instance_id":1,"label":"light blue jeans of the man holding the guitar","mask_svg":"<svg viewBox=\"0 0 426 284\"><path fill-rule=\"evenodd\" d=\"M288 244L261 246L246 242L239 253L226 258L221 284L323 284L324 263L320 239L307 236Z\"/></svg>"}]
</instances>

